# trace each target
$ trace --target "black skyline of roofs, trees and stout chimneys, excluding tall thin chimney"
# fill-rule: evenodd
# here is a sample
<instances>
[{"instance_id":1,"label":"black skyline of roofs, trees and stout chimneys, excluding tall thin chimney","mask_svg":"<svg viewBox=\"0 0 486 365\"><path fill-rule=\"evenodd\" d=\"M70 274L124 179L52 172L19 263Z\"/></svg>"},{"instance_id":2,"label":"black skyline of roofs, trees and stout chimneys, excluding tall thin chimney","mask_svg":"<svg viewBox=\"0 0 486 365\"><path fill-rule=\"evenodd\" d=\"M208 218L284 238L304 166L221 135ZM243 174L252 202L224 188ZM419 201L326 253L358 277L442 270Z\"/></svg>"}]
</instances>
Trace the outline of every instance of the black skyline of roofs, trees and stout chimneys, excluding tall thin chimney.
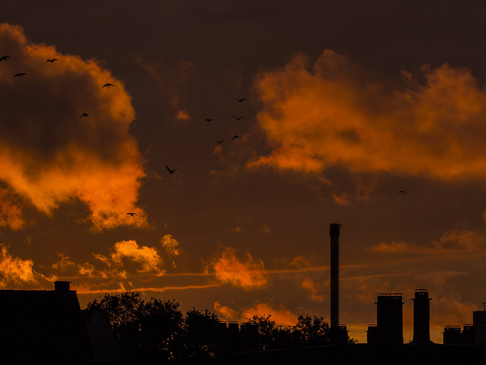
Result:
<instances>
[{"instance_id":1,"label":"black skyline of roofs, trees and stout chimneys, excluding tall thin chimney","mask_svg":"<svg viewBox=\"0 0 486 365\"><path fill-rule=\"evenodd\" d=\"M336 325L324 317L299 315L288 327L276 326L271 315L226 323L207 309L184 314L175 299L144 301L139 292L106 293L81 310L71 282L53 284L53 290L0 290L1 361L314 364L337 358L344 364L387 364L387 353L400 354L397 364L484 360L477 356L486 345L486 310L475 311L474 323L463 330L445 326L444 344L434 344L425 289L413 298L413 341L403 342L401 293L379 293L377 325L368 326L368 342L359 344L346 330L338 338Z\"/></svg>"}]
</instances>

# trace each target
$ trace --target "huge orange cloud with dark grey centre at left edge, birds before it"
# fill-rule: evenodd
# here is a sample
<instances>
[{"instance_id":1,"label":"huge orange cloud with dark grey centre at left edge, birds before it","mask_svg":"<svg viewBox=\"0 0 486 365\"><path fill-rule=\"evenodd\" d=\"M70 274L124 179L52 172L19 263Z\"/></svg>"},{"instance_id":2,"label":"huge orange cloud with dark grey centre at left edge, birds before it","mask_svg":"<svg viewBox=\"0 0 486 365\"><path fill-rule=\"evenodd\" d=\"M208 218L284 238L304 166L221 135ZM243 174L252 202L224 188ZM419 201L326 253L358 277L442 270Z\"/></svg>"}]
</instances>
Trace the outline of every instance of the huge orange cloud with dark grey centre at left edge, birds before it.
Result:
<instances>
[{"instance_id":1,"label":"huge orange cloud with dark grey centre at left edge, birds before it","mask_svg":"<svg viewBox=\"0 0 486 365\"><path fill-rule=\"evenodd\" d=\"M16 196L45 214L79 200L93 231L146 226L137 207L142 158L128 131L135 110L123 82L96 60L30 43L19 26L0 25L0 49L11 56L0 68L0 181L10 189L3 219L22 225ZM18 72L26 75L13 78ZM102 88L107 82L115 86Z\"/></svg>"}]
</instances>

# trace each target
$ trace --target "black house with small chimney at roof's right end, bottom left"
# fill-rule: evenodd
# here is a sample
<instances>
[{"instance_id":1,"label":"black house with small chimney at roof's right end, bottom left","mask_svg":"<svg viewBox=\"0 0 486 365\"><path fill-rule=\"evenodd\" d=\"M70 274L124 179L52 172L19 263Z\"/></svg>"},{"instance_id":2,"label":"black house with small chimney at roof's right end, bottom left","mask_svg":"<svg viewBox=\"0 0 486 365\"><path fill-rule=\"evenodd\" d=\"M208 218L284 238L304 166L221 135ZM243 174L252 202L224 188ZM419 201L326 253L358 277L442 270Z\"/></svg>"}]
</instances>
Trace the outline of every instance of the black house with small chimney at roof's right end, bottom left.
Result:
<instances>
[{"instance_id":1,"label":"black house with small chimney at roof's right end, bottom left","mask_svg":"<svg viewBox=\"0 0 486 365\"><path fill-rule=\"evenodd\" d=\"M92 360L85 313L69 281L54 290L0 290L0 363Z\"/></svg>"}]
</instances>

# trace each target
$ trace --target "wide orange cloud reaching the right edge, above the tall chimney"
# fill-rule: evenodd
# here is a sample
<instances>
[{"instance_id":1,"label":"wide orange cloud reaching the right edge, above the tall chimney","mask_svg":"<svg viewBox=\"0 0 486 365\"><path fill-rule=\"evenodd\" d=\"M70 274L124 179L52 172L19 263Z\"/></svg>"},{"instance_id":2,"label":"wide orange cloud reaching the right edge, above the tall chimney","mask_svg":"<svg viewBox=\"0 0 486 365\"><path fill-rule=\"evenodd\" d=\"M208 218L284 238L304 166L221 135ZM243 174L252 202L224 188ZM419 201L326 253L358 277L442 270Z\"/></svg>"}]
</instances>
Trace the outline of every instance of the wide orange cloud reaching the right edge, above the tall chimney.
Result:
<instances>
[{"instance_id":1,"label":"wide orange cloud reaching the right edge, above the tall chimney","mask_svg":"<svg viewBox=\"0 0 486 365\"><path fill-rule=\"evenodd\" d=\"M395 90L330 50L312 67L299 55L261 72L258 123L273 152L247 165L485 179L486 90L467 69L445 64L421 73L421 80L404 73Z\"/></svg>"}]
</instances>

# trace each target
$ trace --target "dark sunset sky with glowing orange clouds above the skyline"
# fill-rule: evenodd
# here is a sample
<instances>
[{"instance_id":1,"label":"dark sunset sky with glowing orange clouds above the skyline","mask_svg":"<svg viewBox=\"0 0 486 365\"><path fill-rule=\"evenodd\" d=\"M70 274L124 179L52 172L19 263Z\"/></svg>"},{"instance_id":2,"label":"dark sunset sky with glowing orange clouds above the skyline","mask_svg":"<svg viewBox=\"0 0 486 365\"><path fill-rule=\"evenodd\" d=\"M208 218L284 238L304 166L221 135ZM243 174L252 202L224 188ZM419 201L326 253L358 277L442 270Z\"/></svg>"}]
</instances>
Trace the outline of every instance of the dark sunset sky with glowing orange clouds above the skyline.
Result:
<instances>
[{"instance_id":1,"label":"dark sunset sky with glowing orange clouds above the skyline","mask_svg":"<svg viewBox=\"0 0 486 365\"><path fill-rule=\"evenodd\" d=\"M408 341L428 289L441 343L486 301L485 15L2 0L0 288L329 321L341 223L349 335L365 342L377 294L399 292Z\"/></svg>"}]
</instances>

